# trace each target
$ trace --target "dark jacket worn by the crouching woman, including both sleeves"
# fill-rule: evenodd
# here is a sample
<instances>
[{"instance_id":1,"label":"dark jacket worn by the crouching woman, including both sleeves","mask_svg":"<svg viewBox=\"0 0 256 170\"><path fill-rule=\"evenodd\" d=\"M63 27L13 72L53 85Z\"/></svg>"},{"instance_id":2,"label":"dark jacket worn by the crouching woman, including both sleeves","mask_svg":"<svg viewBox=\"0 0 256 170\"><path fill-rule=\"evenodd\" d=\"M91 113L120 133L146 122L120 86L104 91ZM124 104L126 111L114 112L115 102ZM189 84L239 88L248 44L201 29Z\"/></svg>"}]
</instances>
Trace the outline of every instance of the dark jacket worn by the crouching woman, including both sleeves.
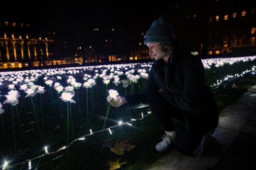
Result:
<instances>
[{"instance_id":1,"label":"dark jacket worn by the crouching woman, including both sleeves","mask_svg":"<svg viewBox=\"0 0 256 170\"><path fill-rule=\"evenodd\" d=\"M184 110L185 117L197 114L214 119L218 124L218 107L210 86L205 83L204 66L199 57L176 50L167 64L162 59L154 60L145 92L125 95L126 108L148 106L148 98L158 93L160 88L164 89L161 92L164 99Z\"/></svg>"}]
</instances>

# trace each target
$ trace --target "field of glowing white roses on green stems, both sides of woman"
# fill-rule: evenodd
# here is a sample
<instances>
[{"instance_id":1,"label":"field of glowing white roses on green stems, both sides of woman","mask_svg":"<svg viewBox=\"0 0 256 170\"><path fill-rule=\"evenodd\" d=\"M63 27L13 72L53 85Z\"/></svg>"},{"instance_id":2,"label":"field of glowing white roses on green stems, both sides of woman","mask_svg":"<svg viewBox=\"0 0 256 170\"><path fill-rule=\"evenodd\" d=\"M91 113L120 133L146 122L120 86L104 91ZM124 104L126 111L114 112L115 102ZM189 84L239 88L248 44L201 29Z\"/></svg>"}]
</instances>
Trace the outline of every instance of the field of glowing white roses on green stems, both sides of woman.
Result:
<instances>
[{"instance_id":1,"label":"field of glowing white roses on green stems, both sides of woman","mask_svg":"<svg viewBox=\"0 0 256 170\"><path fill-rule=\"evenodd\" d=\"M245 73L255 74L256 56L202 61L206 81L213 88ZM77 152L92 153L88 150L96 149L98 143L109 144L111 135L116 134L117 139L131 138L138 127L133 128L130 121L150 114L148 108L113 108L107 96L111 89L120 95L143 92L151 64L0 72L0 152L14 159L8 163L6 158L3 168L38 168L43 162L51 162L48 166L55 169L61 163L52 162L60 151L65 152L68 160ZM123 128L117 129L118 126ZM119 131L127 132L126 137ZM67 148L75 142L85 146L68 152Z\"/></svg>"}]
</instances>

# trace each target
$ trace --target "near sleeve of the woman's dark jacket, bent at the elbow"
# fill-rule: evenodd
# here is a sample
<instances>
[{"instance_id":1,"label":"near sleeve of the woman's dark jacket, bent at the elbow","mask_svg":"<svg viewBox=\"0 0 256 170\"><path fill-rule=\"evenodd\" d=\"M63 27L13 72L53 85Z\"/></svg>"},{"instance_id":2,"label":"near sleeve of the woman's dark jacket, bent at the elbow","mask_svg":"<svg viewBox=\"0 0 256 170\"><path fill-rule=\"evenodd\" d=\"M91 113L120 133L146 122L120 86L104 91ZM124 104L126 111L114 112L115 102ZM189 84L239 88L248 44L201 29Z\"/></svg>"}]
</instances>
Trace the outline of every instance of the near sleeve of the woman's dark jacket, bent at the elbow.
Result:
<instances>
[{"instance_id":1,"label":"near sleeve of the woman's dark jacket, bent at the elbow","mask_svg":"<svg viewBox=\"0 0 256 170\"><path fill-rule=\"evenodd\" d=\"M191 58L183 65L184 89L182 93L163 90L162 96L182 110L198 113L205 85L204 67L200 58Z\"/></svg>"}]
</instances>

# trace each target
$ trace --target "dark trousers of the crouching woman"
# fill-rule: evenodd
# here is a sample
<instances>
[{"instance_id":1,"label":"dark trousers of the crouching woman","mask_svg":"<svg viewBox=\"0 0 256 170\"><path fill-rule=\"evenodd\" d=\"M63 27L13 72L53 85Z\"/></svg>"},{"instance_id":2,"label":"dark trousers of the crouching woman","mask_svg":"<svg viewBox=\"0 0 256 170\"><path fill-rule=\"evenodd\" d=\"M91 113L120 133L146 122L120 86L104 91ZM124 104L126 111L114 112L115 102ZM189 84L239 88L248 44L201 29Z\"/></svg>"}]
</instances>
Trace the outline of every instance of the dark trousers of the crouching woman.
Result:
<instances>
[{"instance_id":1,"label":"dark trousers of the crouching woman","mask_svg":"<svg viewBox=\"0 0 256 170\"><path fill-rule=\"evenodd\" d=\"M208 125L211 124L207 122L208 119L173 106L160 93L150 97L149 107L165 131L176 130L172 118L184 122L184 125L178 129L175 139L176 149L182 154L192 154L193 150L199 146L202 138L211 130L215 129L215 127Z\"/></svg>"}]
</instances>

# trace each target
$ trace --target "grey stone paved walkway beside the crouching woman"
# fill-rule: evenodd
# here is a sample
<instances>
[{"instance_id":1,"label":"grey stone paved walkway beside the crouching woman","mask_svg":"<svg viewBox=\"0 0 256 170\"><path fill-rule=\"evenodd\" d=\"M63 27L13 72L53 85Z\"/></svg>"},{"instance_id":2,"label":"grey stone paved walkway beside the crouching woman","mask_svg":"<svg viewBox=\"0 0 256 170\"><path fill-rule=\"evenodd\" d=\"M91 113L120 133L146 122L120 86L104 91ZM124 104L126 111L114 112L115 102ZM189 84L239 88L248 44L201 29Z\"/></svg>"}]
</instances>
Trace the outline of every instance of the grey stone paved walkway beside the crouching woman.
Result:
<instances>
[{"instance_id":1,"label":"grey stone paved walkway beside the crouching woman","mask_svg":"<svg viewBox=\"0 0 256 170\"><path fill-rule=\"evenodd\" d=\"M203 157L184 156L172 149L148 170L255 170L256 85L221 112L208 141L211 147Z\"/></svg>"}]
</instances>

